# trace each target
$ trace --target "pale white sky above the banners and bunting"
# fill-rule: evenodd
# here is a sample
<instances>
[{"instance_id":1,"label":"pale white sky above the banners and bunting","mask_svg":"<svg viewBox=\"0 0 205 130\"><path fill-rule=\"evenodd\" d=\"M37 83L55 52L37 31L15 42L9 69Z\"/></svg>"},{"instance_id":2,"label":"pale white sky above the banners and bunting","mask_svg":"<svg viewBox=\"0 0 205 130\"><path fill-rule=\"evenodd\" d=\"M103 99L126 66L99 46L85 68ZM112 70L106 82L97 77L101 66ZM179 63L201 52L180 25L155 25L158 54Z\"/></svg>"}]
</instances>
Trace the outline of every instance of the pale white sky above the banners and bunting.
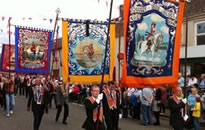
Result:
<instances>
[{"instance_id":1,"label":"pale white sky above the banners and bunting","mask_svg":"<svg viewBox=\"0 0 205 130\"><path fill-rule=\"evenodd\" d=\"M8 19L11 19L11 44L14 44L15 25L54 29L57 8L60 18L106 20L111 0L0 0L0 52L8 43ZM119 5L124 0L114 0L112 18L119 17ZM3 17L4 20L2 19ZM30 18L30 19L29 19ZM44 19L44 20L43 20ZM46 19L46 20L45 20ZM50 20L52 19L52 23ZM61 22L58 23L61 28ZM3 32L2 32L3 31ZM61 33L59 32L59 37Z\"/></svg>"}]
</instances>

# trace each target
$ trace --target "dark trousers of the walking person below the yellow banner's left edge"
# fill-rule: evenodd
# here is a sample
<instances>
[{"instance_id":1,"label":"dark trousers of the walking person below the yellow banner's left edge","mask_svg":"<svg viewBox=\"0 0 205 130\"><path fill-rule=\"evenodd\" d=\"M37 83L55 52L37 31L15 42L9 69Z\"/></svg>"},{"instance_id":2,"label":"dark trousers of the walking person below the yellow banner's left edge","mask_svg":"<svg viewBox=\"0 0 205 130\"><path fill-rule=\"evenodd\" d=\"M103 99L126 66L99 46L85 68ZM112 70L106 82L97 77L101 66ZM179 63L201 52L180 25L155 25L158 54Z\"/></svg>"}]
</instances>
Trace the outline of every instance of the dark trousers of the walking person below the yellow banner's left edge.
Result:
<instances>
[{"instance_id":1,"label":"dark trousers of the walking person below the yellow banner's left edge","mask_svg":"<svg viewBox=\"0 0 205 130\"><path fill-rule=\"evenodd\" d=\"M69 111L68 111L68 104L64 103L64 115L63 115L63 122L67 120L67 117L69 115ZM62 111L62 105L58 105L57 106L57 113L56 113L56 121L58 121L58 118L60 116L60 113Z\"/></svg>"}]
</instances>

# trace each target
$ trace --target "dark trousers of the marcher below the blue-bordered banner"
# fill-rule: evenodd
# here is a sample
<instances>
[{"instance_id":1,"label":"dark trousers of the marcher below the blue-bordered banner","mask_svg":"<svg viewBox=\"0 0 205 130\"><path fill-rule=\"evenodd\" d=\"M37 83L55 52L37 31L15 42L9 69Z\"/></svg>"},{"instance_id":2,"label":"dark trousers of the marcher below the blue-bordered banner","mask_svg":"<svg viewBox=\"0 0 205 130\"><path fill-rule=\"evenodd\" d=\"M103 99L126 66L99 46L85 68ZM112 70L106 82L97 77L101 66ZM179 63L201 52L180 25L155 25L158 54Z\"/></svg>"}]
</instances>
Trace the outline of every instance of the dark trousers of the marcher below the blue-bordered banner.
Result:
<instances>
[{"instance_id":1,"label":"dark trousers of the marcher below the blue-bordered banner","mask_svg":"<svg viewBox=\"0 0 205 130\"><path fill-rule=\"evenodd\" d=\"M37 108L33 111L34 130L39 130L39 126L41 124L43 114L44 114L44 109L42 109L42 108Z\"/></svg>"}]
</instances>

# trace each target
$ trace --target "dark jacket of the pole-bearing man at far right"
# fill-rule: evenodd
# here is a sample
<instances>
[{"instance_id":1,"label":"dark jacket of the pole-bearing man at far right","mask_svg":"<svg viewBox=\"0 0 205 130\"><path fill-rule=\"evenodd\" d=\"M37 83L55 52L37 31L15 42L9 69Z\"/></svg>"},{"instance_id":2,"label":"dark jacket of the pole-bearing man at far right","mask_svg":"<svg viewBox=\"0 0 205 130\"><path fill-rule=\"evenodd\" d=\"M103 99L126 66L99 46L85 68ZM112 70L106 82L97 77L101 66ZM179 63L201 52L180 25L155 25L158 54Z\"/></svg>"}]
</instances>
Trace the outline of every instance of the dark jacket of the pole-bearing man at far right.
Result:
<instances>
[{"instance_id":1,"label":"dark jacket of the pole-bearing man at far right","mask_svg":"<svg viewBox=\"0 0 205 130\"><path fill-rule=\"evenodd\" d=\"M184 119L182 117L181 109L185 107L183 102L179 102L178 104L174 101L173 98L168 100L169 108L170 108L170 125L171 126L184 126Z\"/></svg>"}]
</instances>

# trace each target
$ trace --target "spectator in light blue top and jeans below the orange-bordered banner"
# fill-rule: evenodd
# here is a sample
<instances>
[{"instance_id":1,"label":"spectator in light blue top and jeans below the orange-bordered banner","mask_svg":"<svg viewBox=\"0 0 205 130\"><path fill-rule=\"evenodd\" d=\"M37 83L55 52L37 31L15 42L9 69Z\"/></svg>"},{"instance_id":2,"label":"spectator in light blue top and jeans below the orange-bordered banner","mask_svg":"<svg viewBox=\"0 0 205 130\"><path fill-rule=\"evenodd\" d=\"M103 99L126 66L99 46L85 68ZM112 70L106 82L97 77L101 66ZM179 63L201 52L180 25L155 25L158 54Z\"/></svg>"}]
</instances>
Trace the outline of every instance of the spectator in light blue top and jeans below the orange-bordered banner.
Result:
<instances>
[{"instance_id":1,"label":"spectator in light blue top and jeans below the orange-bordered banner","mask_svg":"<svg viewBox=\"0 0 205 130\"><path fill-rule=\"evenodd\" d=\"M142 103L142 125L152 125L152 101L153 101L153 90L152 88L144 88L140 97Z\"/></svg>"}]
</instances>

